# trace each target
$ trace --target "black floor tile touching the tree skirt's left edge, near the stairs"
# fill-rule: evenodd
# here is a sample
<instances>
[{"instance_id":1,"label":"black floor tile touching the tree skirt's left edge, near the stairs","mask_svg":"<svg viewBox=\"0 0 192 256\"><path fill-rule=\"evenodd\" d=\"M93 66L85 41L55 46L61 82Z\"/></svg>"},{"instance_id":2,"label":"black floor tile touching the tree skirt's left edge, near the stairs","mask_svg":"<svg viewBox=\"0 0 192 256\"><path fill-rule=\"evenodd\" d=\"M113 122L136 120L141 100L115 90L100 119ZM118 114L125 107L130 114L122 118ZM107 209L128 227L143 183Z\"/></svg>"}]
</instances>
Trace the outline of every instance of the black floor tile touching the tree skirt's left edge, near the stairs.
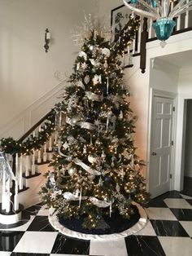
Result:
<instances>
[{"instance_id":1,"label":"black floor tile touching the tree skirt's left edge, near the stairs","mask_svg":"<svg viewBox=\"0 0 192 256\"><path fill-rule=\"evenodd\" d=\"M47 216L36 216L27 231L56 232L49 223Z\"/></svg>"}]
</instances>

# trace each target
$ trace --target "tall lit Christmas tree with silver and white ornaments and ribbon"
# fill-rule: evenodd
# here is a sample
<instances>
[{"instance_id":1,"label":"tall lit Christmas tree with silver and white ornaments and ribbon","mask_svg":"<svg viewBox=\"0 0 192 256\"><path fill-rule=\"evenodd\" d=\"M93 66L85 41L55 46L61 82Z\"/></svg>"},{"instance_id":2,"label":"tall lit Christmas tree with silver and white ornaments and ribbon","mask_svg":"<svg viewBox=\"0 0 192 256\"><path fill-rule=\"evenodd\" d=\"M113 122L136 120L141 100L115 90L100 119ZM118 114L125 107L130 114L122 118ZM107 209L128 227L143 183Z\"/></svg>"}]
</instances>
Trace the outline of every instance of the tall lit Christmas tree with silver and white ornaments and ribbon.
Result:
<instances>
[{"instance_id":1,"label":"tall lit Christmas tree with silver and white ornaments and ribbon","mask_svg":"<svg viewBox=\"0 0 192 256\"><path fill-rule=\"evenodd\" d=\"M137 30L132 19L129 38ZM133 143L136 118L129 107L120 55L124 39L111 42L103 29L90 28L65 88L55 106L55 156L41 196L58 216L80 218L89 229L104 216L134 214L132 202L148 200ZM104 228L105 225L103 225Z\"/></svg>"}]
</instances>

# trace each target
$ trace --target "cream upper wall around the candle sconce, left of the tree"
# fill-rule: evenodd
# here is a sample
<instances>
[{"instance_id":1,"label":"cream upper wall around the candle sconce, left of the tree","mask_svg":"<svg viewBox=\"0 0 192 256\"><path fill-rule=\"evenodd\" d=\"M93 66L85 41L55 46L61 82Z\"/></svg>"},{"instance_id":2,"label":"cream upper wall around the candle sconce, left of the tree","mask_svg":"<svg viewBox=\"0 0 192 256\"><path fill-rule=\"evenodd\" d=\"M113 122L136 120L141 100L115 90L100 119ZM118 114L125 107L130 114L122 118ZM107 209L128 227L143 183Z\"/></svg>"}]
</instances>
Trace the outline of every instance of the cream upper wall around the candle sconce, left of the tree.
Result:
<instances>
[{"instance_id":1,"label":"cream upper wall around the candle sconce, left of the tree","mask_svg":"<svg viewBox=\"0 0 192 256\"><path fill-rule=\"evenodd\" d=\"M72 72L79 50L72 42L72 28L84 20L84 11L97 11L96 3L0 0L0 130L59 84L56 71L63 77ZM43 48L46 28L51 33L48 53ZM46 106L44 112L49 109Z\"/></svg>"}]
</instances>

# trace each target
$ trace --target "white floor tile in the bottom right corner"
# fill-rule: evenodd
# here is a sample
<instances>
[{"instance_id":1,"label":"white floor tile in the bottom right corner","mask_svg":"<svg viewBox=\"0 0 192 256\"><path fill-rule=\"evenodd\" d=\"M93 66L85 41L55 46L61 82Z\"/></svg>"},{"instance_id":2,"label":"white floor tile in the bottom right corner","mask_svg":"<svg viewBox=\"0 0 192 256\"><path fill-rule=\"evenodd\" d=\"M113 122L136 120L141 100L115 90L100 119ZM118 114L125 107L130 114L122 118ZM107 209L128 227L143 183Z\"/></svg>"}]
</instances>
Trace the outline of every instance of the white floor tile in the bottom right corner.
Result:
<instances>
[{"instance_id":1,"label":"white floor tile in the bottom right corner","mask_svg":"<svg viewBox=\"0 0 192 256\"><path fill-rule=\"evenodd\" d=\"M166 256L191 256L192 242L190 237L158 236Z\"/></svg>"}]
</instances>

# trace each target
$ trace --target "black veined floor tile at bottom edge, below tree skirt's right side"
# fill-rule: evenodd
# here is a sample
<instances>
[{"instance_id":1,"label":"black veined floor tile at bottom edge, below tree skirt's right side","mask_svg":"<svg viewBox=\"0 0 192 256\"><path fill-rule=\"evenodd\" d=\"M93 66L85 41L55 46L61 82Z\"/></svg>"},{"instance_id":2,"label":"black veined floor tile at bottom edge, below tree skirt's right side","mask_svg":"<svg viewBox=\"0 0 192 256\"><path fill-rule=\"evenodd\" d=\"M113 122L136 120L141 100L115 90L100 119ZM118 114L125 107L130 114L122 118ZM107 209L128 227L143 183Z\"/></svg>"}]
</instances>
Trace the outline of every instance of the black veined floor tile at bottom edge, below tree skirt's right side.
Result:
<instances>
[{"instance_id":1,"label":"black veined floor tile at bottom edge, below tree skirt's right side","mask_svg":"<svg viewBox=\"0 0 192 256\"><path fill-rule=\"evenodd\" d=\"M166 256L156 236L128 236L125 244L129 256Z\"/></svg>"}]
</instances>

